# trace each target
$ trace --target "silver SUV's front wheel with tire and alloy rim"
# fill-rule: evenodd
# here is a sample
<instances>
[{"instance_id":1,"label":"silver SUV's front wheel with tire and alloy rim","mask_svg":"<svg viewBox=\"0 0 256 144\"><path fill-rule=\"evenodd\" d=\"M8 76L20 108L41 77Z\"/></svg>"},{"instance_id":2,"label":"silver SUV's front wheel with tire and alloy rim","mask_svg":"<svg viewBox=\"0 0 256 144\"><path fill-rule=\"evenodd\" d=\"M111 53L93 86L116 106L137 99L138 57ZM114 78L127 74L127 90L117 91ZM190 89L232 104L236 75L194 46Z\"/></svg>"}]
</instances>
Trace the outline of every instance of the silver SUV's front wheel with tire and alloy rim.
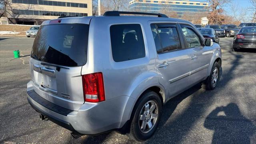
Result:
<instances>
[{"instance_id":1,"label":"silver SUV's front wheel with tire and alloy rim","mask_svg":"<svg viewBox=\"0 0 256 144\"><path fill-rule=\"evenodd\" d=\"M217 70L217 75L216 75L216 70ZM212 82L212 80L214 80L215 83ZM203 85L203 88L206 90L214 90L219 80L220 80L220 65L218 64L218 62L214 62L208 81L206 82L206 84Z\"/></svg>"}]
</instances>

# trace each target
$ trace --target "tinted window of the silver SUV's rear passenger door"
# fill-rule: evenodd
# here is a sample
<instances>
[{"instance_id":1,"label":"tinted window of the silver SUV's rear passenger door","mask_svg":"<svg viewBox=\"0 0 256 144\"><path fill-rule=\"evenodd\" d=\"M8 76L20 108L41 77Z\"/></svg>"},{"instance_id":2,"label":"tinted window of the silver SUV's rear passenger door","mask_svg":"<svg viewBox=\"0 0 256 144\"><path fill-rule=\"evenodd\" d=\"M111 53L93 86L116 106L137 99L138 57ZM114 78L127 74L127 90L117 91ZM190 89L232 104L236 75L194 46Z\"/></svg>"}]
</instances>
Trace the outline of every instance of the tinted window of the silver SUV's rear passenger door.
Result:
<instances>
[{"instance_id":1,"label":"tinted window of the silver SUV's rear passenger door","mask_svg":"<svg viewBox=\"0 0 256 144\"><path fill-rule=\"evenodd\" d=\"M180 49L180 39L175 25L158 24L151 25L152 34L158 54Z\"/></svg>"}]
</instances>

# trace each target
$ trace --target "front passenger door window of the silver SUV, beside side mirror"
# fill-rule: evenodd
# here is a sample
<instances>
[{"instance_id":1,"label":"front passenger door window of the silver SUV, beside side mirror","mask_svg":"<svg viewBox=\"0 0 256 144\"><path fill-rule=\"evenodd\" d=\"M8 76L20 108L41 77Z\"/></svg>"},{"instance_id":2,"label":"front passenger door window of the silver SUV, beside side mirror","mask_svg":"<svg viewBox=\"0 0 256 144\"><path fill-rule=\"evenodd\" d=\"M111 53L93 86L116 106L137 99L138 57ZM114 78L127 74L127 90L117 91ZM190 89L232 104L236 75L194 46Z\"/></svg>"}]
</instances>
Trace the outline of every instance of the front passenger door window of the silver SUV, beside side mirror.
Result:
<instances>
[{"instance_id":1,"label":"front passenger door window of the silver SUV, beside side mirror","mask_svg":"<svg viewBox=\"0 0 256 144\"><path fill-rule=\"evenodd\" d=\"M182 28L182 32L185 38L186 48L201 46L200 38L192 27L186 26L186 25L180 25L180 26Z\"/></svg>"}]
</instances>

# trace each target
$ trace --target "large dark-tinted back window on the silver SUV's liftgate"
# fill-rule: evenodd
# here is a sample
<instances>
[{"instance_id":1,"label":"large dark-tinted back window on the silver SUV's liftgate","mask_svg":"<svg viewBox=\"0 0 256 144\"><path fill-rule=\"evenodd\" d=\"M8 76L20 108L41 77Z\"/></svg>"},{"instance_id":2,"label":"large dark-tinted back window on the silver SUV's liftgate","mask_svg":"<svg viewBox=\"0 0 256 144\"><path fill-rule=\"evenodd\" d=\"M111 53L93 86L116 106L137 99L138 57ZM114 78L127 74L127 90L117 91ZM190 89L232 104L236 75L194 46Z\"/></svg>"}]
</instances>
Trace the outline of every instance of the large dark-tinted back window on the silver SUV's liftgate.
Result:
<instances>
[{"instance_id":1,"label":"large dark-tinted back window on the silver SUV's liftgate","mask_svg":"<svg viewBox=\"0 0 256 144\"><path fill-rule=\"evenodd\" d=\"M88 24L50 24L41 26L32 47L31 57L62 66L86 63Z\"/></svg>"}]
</instances>

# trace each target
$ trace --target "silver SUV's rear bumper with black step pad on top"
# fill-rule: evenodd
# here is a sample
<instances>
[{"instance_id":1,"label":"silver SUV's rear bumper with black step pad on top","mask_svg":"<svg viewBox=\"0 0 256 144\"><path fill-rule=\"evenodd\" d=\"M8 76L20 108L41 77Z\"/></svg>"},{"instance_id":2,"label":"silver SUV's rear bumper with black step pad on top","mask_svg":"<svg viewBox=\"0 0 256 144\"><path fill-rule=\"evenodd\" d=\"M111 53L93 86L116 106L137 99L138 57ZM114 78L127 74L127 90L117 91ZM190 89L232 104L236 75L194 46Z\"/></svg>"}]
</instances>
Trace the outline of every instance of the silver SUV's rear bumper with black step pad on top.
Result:
<instances>
[{"instance_id":1,"label":"silver SUV's rear bumper with black step pad on top","mask_svg":"<svg viewBox=\"0 0 256 144\"><path fill-rule=\"evenodd\" d=\"M98 103L85 102L78 111L70 110L65 115L65 110L62 107L51 102L46 104L50 107L46 106L47 100L38 101L34 96L31 96L36 92L31 92L31 90L27 91L28 102L32 108L52 122L78 134L99 134L109 130L121 131L121 129L123 131L126 122L130 119L130 113L135 103L135 99L129 96L119 96ZM38 94L37 96L41 97Z\"/></svg>"}]
</instances>

